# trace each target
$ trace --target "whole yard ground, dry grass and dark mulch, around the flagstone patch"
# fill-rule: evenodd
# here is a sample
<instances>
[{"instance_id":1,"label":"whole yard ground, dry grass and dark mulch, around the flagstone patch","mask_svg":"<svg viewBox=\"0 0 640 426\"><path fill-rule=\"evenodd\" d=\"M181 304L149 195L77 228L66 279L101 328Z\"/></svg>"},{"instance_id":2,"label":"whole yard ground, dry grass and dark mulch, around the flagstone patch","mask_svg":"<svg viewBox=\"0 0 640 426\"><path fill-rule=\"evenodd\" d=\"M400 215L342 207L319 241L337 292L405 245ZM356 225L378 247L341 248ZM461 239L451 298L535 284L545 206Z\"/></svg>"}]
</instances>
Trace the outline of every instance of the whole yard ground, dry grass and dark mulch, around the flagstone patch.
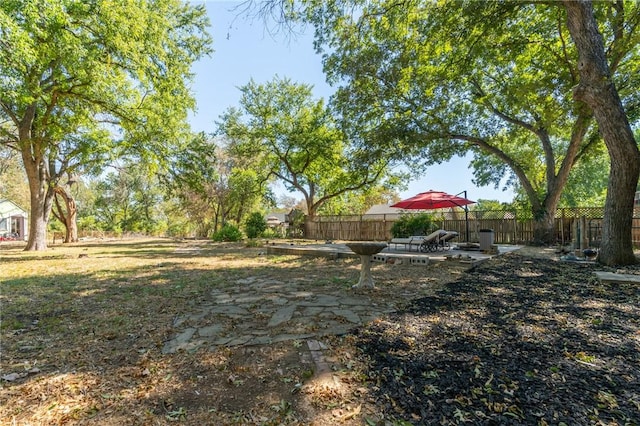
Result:
<instances>
[{"instance_id":1,"label":"whole yard ground, dry grass and dark mulch, around the flagstone patch","mask_svg":"<svg viewBox=\"0 0 640 426\"><path fill-rule=\"evenodd\" d=\"M348 295L357 260L167 241L0 251L18 265L0 287L0 423L638 424L640 291L557 258L375 265L372 297L398 313L321 338L319 371L304 341L161 348L211 286L268 273Z\"/></svg>"}]
</instances>

